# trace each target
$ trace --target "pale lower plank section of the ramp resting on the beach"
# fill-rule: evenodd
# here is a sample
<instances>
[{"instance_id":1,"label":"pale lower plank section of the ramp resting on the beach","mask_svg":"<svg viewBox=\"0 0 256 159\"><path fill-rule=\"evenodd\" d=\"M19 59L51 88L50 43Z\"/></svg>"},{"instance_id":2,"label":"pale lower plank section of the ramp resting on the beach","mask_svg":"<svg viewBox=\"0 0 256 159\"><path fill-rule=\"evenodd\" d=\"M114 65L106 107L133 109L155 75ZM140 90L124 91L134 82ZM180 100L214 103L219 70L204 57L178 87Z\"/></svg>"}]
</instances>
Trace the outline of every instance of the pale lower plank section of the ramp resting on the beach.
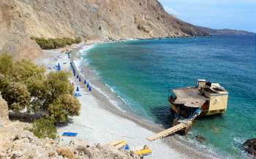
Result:
<instances>
[{"instance_id":1,"label":"pale lower plank section of the ramp resting on the beach","mask_svg":"<svg viewBox=\"0 0 256 159\"><path fill-rule=\"evenodd\" d=\"M161 139L161 138L164 138L165 136L168 136L172 133L176 133L177 131L180 131L180 130L186 128L186 127L187 127L186 123L180 123L178 125L173 126L172 128L168 128L165 131L157 133L154 136L148 137L147 139L149 141L154 141L154 140L157 140L157 139Z\"/></svg>"}]
</instances>

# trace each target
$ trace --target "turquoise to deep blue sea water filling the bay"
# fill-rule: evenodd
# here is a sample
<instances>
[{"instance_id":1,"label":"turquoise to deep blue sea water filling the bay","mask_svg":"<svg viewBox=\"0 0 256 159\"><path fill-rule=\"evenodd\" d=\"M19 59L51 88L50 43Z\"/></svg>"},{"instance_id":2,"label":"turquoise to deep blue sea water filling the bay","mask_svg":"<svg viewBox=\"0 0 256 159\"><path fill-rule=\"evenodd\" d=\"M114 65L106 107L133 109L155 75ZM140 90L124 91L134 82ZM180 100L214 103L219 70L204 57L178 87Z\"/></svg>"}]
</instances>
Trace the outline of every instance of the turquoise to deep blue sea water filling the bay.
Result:
<instances>
[{"instance_id":1,"label":"turquoise to deep blue sea water filling the bay","mask_svg":"<svg viewBox=\"0 0 256 159\"><path fill-rule=\"evenodd\" d=\"M240 158L245 157L241 144L256 137L255 36L97 44L84 58L127 102L127 109L166 127L171 89L193 86L197 79L219 82L230 93L227 112L197 119L188 139L205 136L202 145Z\"/></svg>"}]
</instances>

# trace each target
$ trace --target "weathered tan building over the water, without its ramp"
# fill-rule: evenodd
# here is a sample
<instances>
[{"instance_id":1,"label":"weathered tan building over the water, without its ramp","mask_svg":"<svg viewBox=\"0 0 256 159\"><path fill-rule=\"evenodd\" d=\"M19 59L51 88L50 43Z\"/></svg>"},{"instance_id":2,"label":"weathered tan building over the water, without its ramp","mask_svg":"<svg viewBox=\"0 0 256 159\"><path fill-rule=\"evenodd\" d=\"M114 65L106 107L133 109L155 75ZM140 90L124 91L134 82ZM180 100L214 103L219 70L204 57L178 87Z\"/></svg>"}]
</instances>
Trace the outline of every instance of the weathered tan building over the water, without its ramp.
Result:
<instances>
[{"instance_id":1,"label":"weathered tan building over the water, without its ramp","mask_svg":"<svg viewBox=\"0 0 256 159\"><path fill-rule=\"evenodd\" d=\"M227 110L228 93L219 83L198 80L194 88L173 90L171 109L182 117L191 116L200 109L200 116L222 114Z\"/></svg>"}]
</instances>

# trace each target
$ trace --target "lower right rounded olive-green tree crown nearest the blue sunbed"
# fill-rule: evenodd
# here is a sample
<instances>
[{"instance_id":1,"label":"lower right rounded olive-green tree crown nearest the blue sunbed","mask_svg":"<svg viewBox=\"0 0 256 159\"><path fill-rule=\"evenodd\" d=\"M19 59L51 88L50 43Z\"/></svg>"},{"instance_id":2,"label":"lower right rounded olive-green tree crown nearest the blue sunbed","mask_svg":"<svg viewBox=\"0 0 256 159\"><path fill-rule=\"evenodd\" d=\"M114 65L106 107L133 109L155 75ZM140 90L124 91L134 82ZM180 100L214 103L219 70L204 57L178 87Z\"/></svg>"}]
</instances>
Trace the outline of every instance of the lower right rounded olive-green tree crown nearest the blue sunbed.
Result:
<instances>
[{"instance_id":1,"label":"lower right rounded olive-green tree crown nearest the blue sunbed","mask_svg":"<svg viewBox=\"0 0 256 159\"><path fill-rule=\"evenodd\" d=\"M68 116L79 115L80 103L70 94L64 94L56 98L53 104L48 106L50 117L54 117L57 123L65 123Z\"/></svg>"}]
</instances>

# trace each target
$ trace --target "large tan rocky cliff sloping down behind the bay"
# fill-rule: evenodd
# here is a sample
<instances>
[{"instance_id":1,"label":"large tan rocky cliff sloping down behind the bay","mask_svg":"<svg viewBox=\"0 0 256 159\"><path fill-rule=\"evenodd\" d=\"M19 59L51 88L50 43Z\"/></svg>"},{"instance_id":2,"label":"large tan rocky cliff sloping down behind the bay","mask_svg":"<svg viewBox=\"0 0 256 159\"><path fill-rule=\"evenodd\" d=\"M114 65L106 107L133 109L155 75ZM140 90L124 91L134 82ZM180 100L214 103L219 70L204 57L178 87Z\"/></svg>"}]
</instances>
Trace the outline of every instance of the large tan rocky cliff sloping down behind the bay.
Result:
<instances>
[{"instance_id":1,"label":"large tan rocky cliff sloping down behind the bay","mask_svg":"<svg viewBox=\"0 0 256 159\"><path fill-rule=\"evenodd\" d=\"M129 39L207 35L167 14L157 0L1 0L0 50L29 58L29 36Z\"/></svg>"}]
</instances>

